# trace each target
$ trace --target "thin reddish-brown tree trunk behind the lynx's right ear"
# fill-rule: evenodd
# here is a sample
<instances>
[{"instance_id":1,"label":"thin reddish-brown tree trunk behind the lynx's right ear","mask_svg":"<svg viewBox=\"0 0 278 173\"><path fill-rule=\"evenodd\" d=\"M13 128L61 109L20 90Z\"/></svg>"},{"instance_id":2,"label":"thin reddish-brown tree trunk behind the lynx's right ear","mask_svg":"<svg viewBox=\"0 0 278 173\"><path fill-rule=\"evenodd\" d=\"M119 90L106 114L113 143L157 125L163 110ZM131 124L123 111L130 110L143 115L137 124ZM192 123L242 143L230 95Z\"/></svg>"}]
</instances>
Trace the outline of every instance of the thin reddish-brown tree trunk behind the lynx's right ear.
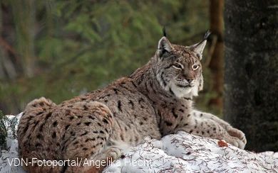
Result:
<instances>
[{"instance_id":1,"label":"thin reddish-brown tree trunk behind the lynx's right ear","mask_svg":"<svg viewBox=\"0 0 278 173\"><path fill-rule=\"evenodd\" d=\"M210 99L209 104L222 109L222 91L223 91L223 8L224 1L210 0L210 30L212 35L217 39L214 52L210 61L210 70L213 74L212 89L217 96Z\"/></svg>"}]
</instances>

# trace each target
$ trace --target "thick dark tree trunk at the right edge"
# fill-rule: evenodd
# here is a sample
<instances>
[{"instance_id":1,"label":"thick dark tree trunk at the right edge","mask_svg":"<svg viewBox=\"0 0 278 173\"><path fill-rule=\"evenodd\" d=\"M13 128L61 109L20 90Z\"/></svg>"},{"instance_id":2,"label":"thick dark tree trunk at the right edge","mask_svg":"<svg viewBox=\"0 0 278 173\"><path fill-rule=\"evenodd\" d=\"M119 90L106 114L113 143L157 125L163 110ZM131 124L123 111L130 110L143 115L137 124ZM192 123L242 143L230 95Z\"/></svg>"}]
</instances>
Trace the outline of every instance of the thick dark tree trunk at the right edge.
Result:
<instances>
[{"instance_id":1,"label":"thick dark tree trunk at the right edge","mask_svg":"<svg viewBox=\"0 0 278 173\"><path fill-rule=\"evenodd\" d=\"M278 151L277 6L225 1L224 118L256 152Z\"/></svg>"}]
</instances>

